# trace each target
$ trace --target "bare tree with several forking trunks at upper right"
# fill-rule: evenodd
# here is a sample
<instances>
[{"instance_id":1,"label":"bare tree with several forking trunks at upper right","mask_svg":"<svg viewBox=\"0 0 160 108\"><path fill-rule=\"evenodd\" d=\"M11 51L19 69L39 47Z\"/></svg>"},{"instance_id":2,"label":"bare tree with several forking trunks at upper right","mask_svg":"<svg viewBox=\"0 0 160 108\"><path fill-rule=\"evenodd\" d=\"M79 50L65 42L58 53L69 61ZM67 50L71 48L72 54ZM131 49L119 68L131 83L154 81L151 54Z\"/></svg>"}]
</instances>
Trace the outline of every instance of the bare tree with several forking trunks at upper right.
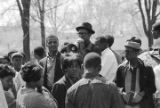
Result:
<instances>
[{"instance_id":1,"label":"bare tree with several forking trunks at upper right","mask_svg":"<svg viewBox=\"0 0 160 108\"><path fill-rule=\"evenodd\" d=\"M148 39L148 47L153 45L152 26L156 22L160 11L158 10L159 0L138 0L143 30Z\"/></svg>"}]
</instances>

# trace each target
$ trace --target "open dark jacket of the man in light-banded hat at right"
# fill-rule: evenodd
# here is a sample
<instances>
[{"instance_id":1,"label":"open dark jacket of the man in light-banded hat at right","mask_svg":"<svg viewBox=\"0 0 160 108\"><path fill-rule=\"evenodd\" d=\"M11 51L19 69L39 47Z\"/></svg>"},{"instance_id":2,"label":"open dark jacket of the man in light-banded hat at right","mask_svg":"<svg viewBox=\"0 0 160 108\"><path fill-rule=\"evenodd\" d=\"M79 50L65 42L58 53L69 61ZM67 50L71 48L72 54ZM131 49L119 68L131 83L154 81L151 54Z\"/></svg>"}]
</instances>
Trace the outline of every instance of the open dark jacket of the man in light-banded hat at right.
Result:
<instances>
[{"instance_id":1,"label":"open dark jacket of the man in light-banded hat at right","mask_svg":"<svg viewBox=\"0 0 160 108\"><path fill-rule=\"evenodd\" d=\"M139 59L139 83L140 91L144 91L145 95L139 103L140 108L153 108L153 93L156 91L155 77L152 67L145 66L143 61ZM122 63L117 70L115 83L118 87L123 88L125 92L125 75L128 62Z\"/></svg>"}]
</instances>

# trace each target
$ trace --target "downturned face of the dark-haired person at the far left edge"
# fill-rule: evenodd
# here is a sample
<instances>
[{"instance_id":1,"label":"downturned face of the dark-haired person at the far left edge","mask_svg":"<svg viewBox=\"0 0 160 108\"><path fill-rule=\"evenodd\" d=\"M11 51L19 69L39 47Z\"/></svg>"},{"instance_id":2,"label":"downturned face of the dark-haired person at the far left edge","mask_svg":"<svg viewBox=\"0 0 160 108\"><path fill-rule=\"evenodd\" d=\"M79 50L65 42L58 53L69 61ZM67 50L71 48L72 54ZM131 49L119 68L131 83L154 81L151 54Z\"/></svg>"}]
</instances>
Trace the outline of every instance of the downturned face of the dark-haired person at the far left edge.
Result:
<instances>
[{"instance_id":1,"label":"downturned face of the dark-haired person at the far left edge","mask_svg":"<svg viewBox=\"0 0 160 108\"><path fill-rule=\"evenodd\" d=\"M5 91L8 91L13 86L13 76L4 77L1 81Z\"/></svg>"}]
</instances>

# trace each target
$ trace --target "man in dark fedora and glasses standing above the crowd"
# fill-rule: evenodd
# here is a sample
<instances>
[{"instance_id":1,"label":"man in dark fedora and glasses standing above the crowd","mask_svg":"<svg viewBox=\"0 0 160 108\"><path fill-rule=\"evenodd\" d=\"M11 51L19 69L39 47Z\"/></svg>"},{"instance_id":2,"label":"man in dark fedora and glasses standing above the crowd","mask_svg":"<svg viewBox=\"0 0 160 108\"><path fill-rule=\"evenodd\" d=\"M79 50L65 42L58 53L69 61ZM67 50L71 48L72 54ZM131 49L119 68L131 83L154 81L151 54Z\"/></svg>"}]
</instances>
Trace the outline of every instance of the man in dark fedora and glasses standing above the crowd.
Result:
<instances>
[{"instance_id":1,"label":"man in dark fedora and glasses standing above the crowd","mask_svg":"<svg viewBox=\"0 0 160 108\"><path fill-rule=\"evenodd\" d=\"M92 25L88 22L82 23L82 25L76 27L78 32L78 36L80 39L76 43L78 46L78 50L82 58L89 53L94 51L94 44L90 41L91 36L95 33L92 29Z\"/></svg>"}]
</instances>

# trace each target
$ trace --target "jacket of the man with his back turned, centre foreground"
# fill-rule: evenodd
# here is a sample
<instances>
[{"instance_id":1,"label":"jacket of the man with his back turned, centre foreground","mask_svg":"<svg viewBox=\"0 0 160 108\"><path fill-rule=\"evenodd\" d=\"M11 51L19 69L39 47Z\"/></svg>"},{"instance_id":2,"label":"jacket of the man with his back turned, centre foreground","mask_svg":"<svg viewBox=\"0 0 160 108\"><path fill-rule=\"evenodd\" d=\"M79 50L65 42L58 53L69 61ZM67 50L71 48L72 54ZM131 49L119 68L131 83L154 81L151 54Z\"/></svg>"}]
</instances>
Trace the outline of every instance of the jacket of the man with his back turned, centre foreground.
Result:
<instances>
[{"instance_id":1,"label":"jacket of the man with his back turned, centre foreground","mask_svg":"<svg viewBox=\"0 0 160 108\"><path fill-rule=\"evenodd\" d=\"M82 78L66 95L66 108L124 108L118 90L99 76Z\"/></svg>"}]
</instances>

